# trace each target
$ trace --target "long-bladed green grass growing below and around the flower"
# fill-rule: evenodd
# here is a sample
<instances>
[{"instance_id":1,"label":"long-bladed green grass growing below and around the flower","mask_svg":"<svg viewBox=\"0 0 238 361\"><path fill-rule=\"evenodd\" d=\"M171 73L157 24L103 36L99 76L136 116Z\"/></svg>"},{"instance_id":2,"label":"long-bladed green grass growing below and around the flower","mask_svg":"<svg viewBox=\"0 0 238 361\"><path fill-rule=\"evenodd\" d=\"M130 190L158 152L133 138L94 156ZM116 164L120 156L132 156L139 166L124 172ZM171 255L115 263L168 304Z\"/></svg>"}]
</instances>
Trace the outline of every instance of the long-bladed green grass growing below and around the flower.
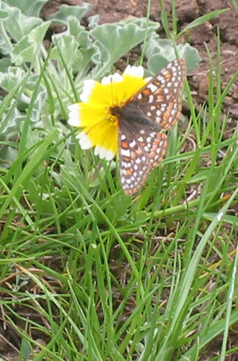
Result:
<instances>
[{"instance_id":1,"label":"long-bladed green grass growing below and around the flower","mask_svg":"<svg viewBox=\"0 0 238 361\"><path fill-rule=\"evenodd\" d=\"M170 131L166 160L135 198L122 192L117 165L99 170L64 125L78 97L66 62L68 94L51 59L36 57L20 137L0 142L16 152L0 168L0 291L1 318L21 339L19 361L225 360L237 352L228 336L238 322L238 134L236 126L226 137L222 113L237 73L221 92L219 54L218 46L207 105L196 111L187 83L189 123ZM18 107L31 71L1 114ZM42 84L48 116L32 127ZM209 358L217 337L220 354Z\"/></svg>"}]
</instances>

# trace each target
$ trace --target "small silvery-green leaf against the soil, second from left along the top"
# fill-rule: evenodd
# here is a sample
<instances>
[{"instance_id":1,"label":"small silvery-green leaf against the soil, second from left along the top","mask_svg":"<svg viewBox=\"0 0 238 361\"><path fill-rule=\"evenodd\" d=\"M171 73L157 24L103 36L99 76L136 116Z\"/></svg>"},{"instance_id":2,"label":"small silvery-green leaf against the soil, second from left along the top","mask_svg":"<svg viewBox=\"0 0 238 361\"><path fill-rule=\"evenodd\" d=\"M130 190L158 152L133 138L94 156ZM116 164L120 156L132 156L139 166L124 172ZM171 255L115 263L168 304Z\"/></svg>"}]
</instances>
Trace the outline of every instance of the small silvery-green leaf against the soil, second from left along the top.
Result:
<instances>
[{"instance_id":1,"label":"small silvery-green leaf against the soil, second from left along the top","mask_svg":"<svg viewBox=\"0 0 238 361\"><path fill-rule=\"evenodd\" d=\"M72 15L78 19L81 19L91 8L92 4L89 3L82 3L80 6L61 5L59 11L49 16L49 19L54 23L66 25L68 16Z\"/></svg>"}]
</instances>

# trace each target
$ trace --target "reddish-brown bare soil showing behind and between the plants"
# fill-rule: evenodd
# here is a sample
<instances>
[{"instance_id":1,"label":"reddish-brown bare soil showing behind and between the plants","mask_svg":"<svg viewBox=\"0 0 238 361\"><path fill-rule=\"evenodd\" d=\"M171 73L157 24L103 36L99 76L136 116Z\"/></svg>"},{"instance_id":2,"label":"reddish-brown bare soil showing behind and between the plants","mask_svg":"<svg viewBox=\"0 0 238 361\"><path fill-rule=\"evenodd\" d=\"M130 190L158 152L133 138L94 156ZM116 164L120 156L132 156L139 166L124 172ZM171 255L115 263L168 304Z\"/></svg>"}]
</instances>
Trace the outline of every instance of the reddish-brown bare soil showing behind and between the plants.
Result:
<instances>
[{"instance_id":1,"label":"reddish-brown bare soil showing behind and between the plants","mask_svg":"<svg viewBox=\"0 0 238 361\"><path fill-rule=\"evenodd\" d=\"M62 3L67 5L81 5L83 0L50 0L42 9L42 18L47 19L53 14ZM168 12L170 12L170 0L164 0ZM146 16L147 0L91 0L94 6L88 16L98 14L100 23L114 23L129 17ZM215 70L217 64L217 25L220 27L221 38L221 69L222 69L222 90L226 87L228 81L233 77L238 69L238 11L233 8L232 2L229 0L176 0L176 16L178 18L178 30L183 29L186 25L194 21L199 16L213 12L214 10L227 8L228 11L217 16L211 22L204 23L200 27L191 29L186 34L186 40L198 49L202 58L200 66L191 74L188 74L189 84L192 90L194 102L199 107L207 102L208 94L208 78L209 78L209 56L207 49L211 55L213 67ZM159 0L152 0L150 19L160 21ZM85 19L85 24L87 20ZM52 27L53 31L60 31L60 27ZM163 29L159 30L161 38L165 37ZM183 39L182 39L183 40ZM184 39L185 41L185 39ZM129 54L130 56L130 54ZM131 57L135 57L135 53L131 53ZM185 109L186 110L186 109ZM235 126L238 118L238 79L233 84L228 96L226 96L223 108L224 114L229 113L230 126L226 133L229 137L229 131ZM3 331L3 330L2 330ZM13 332L14 333L14 332ZM0 332L4 335L4 331ZM16 334L8 336L5 339L0 338L0 349L5 350L1 354L4 360L15 361L18 356L12 353L14 345L19 347L19 340L16 340ZM7 339L8 338L8 339ZM42 342L44 342L42 340ZM204 357L201 361L211 360L219 354L220 337L213 340L207 351L204 351ZM237 334L230 334L229 349L237 347ZM238 360L238 353L232 353L227 356L227 361Z\"/></svg>"}]
</instances>

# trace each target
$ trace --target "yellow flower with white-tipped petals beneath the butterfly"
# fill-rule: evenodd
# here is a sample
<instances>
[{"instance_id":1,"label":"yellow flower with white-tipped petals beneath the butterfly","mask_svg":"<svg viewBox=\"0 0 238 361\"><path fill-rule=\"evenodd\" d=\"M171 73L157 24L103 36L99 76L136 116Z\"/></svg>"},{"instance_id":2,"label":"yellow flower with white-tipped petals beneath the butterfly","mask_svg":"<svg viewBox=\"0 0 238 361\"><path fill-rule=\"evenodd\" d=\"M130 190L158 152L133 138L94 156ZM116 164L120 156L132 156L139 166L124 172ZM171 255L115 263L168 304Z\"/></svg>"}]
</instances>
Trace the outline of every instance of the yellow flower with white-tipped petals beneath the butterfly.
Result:
<instances>
[{"instance_id":1,"label":"yellow flower with white-tipped petals beneath the butterfly","mask_svg":"<svg viewBox=\"0 0 238 361\"><path fill-rule=\"evenodd\" d=\"M111 108L121 107L146 83L142 66L127 66L123 74L104 77L99 83L85 80L81 103L68 107L68 124L82 127L77 135L82 149L94 148L94 155L110 161L118 155L118 119Z\"/></svg>"}]
</instances>

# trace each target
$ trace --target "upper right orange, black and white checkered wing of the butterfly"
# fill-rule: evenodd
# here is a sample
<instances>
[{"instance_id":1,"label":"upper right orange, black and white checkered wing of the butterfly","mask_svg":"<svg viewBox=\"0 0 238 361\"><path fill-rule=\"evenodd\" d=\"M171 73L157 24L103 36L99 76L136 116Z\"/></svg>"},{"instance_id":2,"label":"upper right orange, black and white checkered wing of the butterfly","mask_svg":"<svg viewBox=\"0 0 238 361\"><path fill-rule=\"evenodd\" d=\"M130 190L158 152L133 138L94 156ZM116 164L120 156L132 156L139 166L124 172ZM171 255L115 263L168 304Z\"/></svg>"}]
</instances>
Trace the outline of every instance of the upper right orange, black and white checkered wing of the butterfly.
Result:
<instances>
[{"instance_id":1,"label":"upper right orange, black and white checkered wing of the butterfly","mask_svg":"<svg viewBox=\"0 0 238 361\"><path fill-rule=\"evenodd\" d=\"M151 79L133 96L140 109L168 131L181 116L183 85L186 65L183 59L175 59Z\"/></svg>"}]
</instances>

